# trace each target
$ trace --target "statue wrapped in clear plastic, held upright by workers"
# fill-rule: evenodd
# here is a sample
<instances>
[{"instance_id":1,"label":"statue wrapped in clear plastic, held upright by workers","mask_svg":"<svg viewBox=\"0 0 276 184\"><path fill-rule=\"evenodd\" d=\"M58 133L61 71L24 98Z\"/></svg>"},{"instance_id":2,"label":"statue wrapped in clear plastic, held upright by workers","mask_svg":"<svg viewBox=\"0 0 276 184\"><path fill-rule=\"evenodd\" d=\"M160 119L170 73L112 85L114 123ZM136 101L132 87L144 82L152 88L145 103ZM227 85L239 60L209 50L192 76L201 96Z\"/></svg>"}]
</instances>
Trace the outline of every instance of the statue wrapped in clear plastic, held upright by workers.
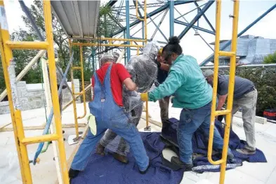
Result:
<instances>
[{"instance_id":1,"label":"statue wrapped in clear plastic, held upright by workers","mask_svg":"<svg viewBox=\"0 0 276 184\"><path fill-rule=\"evenodd\" d=\"M155 57L157 56L158 49L156 42L148 43L143 50L143 55L131 57L126 64L126 69L131 74L132 80L136 83L138 90L137 92L131 92L126 87L123 88L124 108L126 113L129 113L130 123L136 126L143 111L143 101L140 100L138 92L147 92L150 90L152 83L157 78ZM118 52L112 52L112 54L116 58L119 57ZM107 132L105 132L105 135L100 140L97 153L104 155L103 150L105 148L114 153L114 157L117 160L127 162L126 154L129 153L129 144L110 129L107 129Z\"/></svg>"}]
</instances>

